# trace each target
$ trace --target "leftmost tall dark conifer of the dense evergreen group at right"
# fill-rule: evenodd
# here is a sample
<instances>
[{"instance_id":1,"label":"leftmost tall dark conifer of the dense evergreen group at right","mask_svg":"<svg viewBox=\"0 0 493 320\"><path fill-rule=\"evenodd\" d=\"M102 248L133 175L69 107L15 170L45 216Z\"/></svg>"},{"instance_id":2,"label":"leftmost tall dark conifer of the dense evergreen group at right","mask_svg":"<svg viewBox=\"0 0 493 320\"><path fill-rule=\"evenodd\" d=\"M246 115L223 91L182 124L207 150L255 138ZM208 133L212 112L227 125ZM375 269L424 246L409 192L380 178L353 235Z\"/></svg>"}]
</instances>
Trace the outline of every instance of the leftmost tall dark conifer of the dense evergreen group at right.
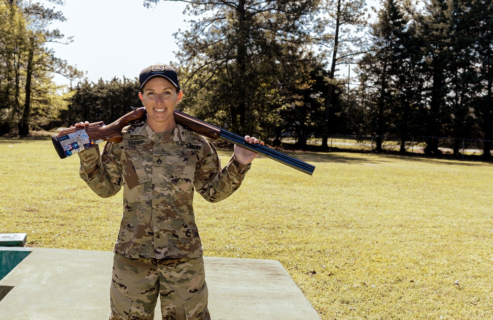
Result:
<instances>
[{"instance_id":1,"label":"leftmost tall dark conifer of the dense evergreen group at right","mask_svg":"<svg viewBox=\"0 0 493 320\"><path fill-rule=\"evenodd\" d=\"M382 151L384 136L408 131L412 102L406 90L411 90L412 80L405 71L411 63L406 48L410 43L407 24L396 1L387 0L372 25L370 50L359 63L362 99L371 134L376 136L377 152ZM396 126L400 128L396 130Z\"/></svg>"}]
</instances>

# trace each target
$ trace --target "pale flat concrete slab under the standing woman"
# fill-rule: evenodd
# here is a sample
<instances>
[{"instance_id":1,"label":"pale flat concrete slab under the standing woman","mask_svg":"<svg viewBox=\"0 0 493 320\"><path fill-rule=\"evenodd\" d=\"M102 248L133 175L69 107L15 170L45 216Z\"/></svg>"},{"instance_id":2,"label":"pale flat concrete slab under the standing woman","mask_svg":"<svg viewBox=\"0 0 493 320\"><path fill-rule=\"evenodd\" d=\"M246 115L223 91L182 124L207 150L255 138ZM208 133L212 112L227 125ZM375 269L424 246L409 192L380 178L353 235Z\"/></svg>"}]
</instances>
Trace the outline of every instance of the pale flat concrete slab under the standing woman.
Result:
<instances>
[{"instance_id":1,"label":"pale flat concrete slab under the standing woman","mask_svg":"<svg viewBox=\"0 0 493 320\"><path fill-rule=\"evenodd\" d=\"M0 320L108 319L112 261L112 252L33 249L0 280ZM204 263L213 320L320 320L279 261Z\"/></svg>"}]
</instances>

